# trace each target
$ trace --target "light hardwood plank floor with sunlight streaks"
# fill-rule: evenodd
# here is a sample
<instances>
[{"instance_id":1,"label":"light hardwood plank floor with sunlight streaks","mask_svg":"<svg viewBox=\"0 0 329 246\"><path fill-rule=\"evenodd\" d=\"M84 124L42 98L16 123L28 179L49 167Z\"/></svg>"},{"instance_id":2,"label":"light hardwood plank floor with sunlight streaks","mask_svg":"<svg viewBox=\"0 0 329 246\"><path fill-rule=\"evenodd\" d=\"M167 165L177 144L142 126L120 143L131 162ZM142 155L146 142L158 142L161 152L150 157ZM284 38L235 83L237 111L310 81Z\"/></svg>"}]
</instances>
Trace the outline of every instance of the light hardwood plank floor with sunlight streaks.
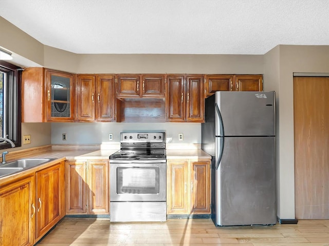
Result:
<instances>
[{"instance_id":1,"label":"light hardwood plank floor with sunlight streaks","mask_svg":"<svg viewBox=\"0 0 329 246\"><path fill-rule=\"evenodd\" d=\"M329 246L329 220L216 228L211 219L121 223L107 219L65 218L38 245Z\"/></svg>"}]
</instances>

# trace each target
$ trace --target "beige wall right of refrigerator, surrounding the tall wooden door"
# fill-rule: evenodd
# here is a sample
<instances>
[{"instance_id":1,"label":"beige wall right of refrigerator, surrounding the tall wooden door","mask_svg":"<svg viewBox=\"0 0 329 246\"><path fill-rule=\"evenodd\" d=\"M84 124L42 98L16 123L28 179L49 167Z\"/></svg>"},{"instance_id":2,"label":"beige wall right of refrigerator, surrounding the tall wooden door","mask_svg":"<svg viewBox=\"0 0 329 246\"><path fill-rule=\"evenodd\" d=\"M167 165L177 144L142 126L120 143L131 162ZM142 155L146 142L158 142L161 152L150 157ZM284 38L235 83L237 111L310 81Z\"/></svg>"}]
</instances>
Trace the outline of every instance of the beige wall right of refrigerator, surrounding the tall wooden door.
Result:
<instances>
[{"instance_id":1,"label":"beige wall right of refrigerator, surrounding the tall wooden door","mask_svg":"<svg viewBox=\"0 0 329 246\"><path fill-rule=\"evenodd\" d=\"M276 90L278 216L295 218L293 74L328 73L329 46L280 45L264 55L265 89ZM268 86L268 87L267 87Z\"/></svg>"}]
</instances>

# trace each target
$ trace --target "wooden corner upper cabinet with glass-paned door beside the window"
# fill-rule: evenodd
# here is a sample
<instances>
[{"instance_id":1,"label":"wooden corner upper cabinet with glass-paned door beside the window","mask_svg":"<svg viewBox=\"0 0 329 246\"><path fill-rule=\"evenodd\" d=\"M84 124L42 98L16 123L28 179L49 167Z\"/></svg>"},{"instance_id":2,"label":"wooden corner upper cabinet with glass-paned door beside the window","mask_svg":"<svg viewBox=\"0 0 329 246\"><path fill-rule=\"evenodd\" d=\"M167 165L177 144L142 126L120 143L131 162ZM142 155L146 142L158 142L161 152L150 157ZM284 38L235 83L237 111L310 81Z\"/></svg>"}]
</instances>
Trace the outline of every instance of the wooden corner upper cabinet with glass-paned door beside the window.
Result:
<instances>
[{"instance_id":1,"label":"wooden corner upper cabinet with glass-paned door beside the window","mask_svg":"<svg viewBox=\"0 0 329 246\"><path fill-rule=\"evenodd\" d=\"M74 75L44 68L22 73L22 122L74 121Z\"/></svg>"}]
</instances>

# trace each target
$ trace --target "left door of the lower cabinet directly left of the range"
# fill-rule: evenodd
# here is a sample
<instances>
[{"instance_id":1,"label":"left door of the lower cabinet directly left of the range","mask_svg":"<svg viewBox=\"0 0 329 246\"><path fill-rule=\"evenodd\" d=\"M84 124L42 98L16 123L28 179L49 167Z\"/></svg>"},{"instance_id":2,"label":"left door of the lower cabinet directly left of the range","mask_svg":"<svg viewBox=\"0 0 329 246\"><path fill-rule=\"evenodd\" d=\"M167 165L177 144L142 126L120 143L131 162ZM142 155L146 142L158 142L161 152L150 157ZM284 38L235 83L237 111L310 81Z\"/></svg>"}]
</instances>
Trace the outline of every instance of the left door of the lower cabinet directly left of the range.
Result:
<instances>
[{"instance_id":1,"label":"left door of the lower cabinet directly left of the range","mask_svg":"<svg viewBox=\"0 0 329 246\"><path fill-rule=\"evenodd\" d=\"M66 213L86 214L86 161L66 161Z\"/></svg>"}]
</instances>

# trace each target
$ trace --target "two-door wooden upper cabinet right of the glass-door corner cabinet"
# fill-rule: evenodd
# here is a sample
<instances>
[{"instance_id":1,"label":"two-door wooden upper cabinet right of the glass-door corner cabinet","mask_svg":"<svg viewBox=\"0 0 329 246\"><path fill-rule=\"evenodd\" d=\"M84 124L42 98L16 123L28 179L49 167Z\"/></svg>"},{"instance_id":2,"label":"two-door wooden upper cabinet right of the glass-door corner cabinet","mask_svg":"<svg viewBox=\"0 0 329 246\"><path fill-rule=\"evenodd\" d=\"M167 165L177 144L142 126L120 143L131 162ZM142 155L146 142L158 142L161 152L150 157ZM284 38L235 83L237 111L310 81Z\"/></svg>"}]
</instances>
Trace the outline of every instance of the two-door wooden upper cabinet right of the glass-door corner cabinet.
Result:
<instances>
[{"instance_id":1,"label":"two-door wooden upper cabinet right of the glass-door corner cabinet","mask_svg":"<svg viewBox=\"0 0 329 246\"><path fill-rule=\"evenodd\" d=\"M115 76L77 75L77 120L115 120Z\"/></svg>"}]
</instances>

